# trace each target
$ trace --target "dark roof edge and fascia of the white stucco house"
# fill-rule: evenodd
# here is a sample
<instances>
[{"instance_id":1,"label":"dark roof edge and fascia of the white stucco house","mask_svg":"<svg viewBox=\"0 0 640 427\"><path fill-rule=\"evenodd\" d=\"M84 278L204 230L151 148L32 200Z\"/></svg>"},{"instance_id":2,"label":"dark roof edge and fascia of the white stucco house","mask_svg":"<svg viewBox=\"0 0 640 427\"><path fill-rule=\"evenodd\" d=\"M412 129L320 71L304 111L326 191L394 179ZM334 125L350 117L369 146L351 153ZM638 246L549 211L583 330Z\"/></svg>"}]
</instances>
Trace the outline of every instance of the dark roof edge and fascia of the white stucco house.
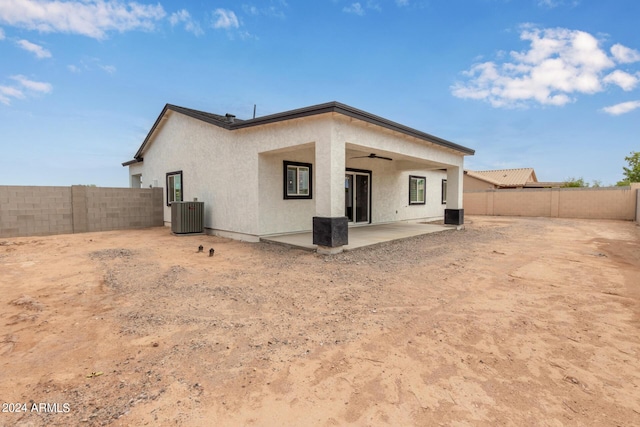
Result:
<instances>
[{"instance_id":1,"label":"dark roof edge and fascia of the white stucco house","mask_svg":"<svg viewBox=\"0 0 640 427\"><path fill-rule=\"evenodd\" d=\"M175 111L189 117L192 117L197 120L202 120L206 123L222 127L229 131L233 131L236 129L243 129L252 126L260 126L269 123L276 123L285 120L292 120L301 117L314 116L317 114L326 114L326 113L339 113L348 117L352 117L358 120L363 120L368 123L372 123L399 133L403 133L405 135L409 135L423 141L427 141L436 145L440 145L442 147L446 147L449 149L453 149L455 151L459 151L464 155L473 155L475 150L471 148L463 147L462 145L455 144L451 141L447 141L442 138L438 138L437 136L430 135L425 132L421 132L419 130L410 128L408 126L401 125L399 123L393 122L391 120L387 120L385 118L376 116L371 113L367 113L366 111L358 110L356 108L350 107L345 104L341 104L339 102L328 102L326 104L318 104L312 105L310 107L299 108L297 110L285 111L283 113L271 114L263 117L256 117L254 119L249 120L240 120L236 119L235 116L227 114L225 116L221 116L218 114L206 113L204 111L192 110L190 108L179 107L177 105L167 104L164 109L158 116L158 119L154 123L153 127L147 134L144 142L136 152L134 159L122 164L122 166L129 166L134 163L138 163L142 161L142 153L146 145L151 140L156 128L160 125L162 118L165 116L167 111Z\"/></svg>"}]
</instances>

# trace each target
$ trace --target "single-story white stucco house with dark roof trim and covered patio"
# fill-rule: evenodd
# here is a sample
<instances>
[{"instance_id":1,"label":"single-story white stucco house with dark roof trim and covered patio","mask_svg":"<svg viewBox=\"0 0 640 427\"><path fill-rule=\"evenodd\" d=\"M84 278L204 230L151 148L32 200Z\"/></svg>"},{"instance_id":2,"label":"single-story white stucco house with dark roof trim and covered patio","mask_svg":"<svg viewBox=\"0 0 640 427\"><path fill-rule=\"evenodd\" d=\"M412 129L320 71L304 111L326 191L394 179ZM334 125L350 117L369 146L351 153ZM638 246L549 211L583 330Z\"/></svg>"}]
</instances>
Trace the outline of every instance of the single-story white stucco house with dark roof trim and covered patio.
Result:
<instances>
[{"instance_id":1,"label":"single-story white stucco house with dark roof trim and covered patio","mask_svg":"<svg viewBox=\"0 0 640 427\"><path fill-rule=\"evenodd\" d=\"M240 240L312 231L337 253L353 226L462 224L474 150L338 102L241 120L167 104L129 168L132 187L204 202L205 229Z\"/></svg>"}]
</instances>

